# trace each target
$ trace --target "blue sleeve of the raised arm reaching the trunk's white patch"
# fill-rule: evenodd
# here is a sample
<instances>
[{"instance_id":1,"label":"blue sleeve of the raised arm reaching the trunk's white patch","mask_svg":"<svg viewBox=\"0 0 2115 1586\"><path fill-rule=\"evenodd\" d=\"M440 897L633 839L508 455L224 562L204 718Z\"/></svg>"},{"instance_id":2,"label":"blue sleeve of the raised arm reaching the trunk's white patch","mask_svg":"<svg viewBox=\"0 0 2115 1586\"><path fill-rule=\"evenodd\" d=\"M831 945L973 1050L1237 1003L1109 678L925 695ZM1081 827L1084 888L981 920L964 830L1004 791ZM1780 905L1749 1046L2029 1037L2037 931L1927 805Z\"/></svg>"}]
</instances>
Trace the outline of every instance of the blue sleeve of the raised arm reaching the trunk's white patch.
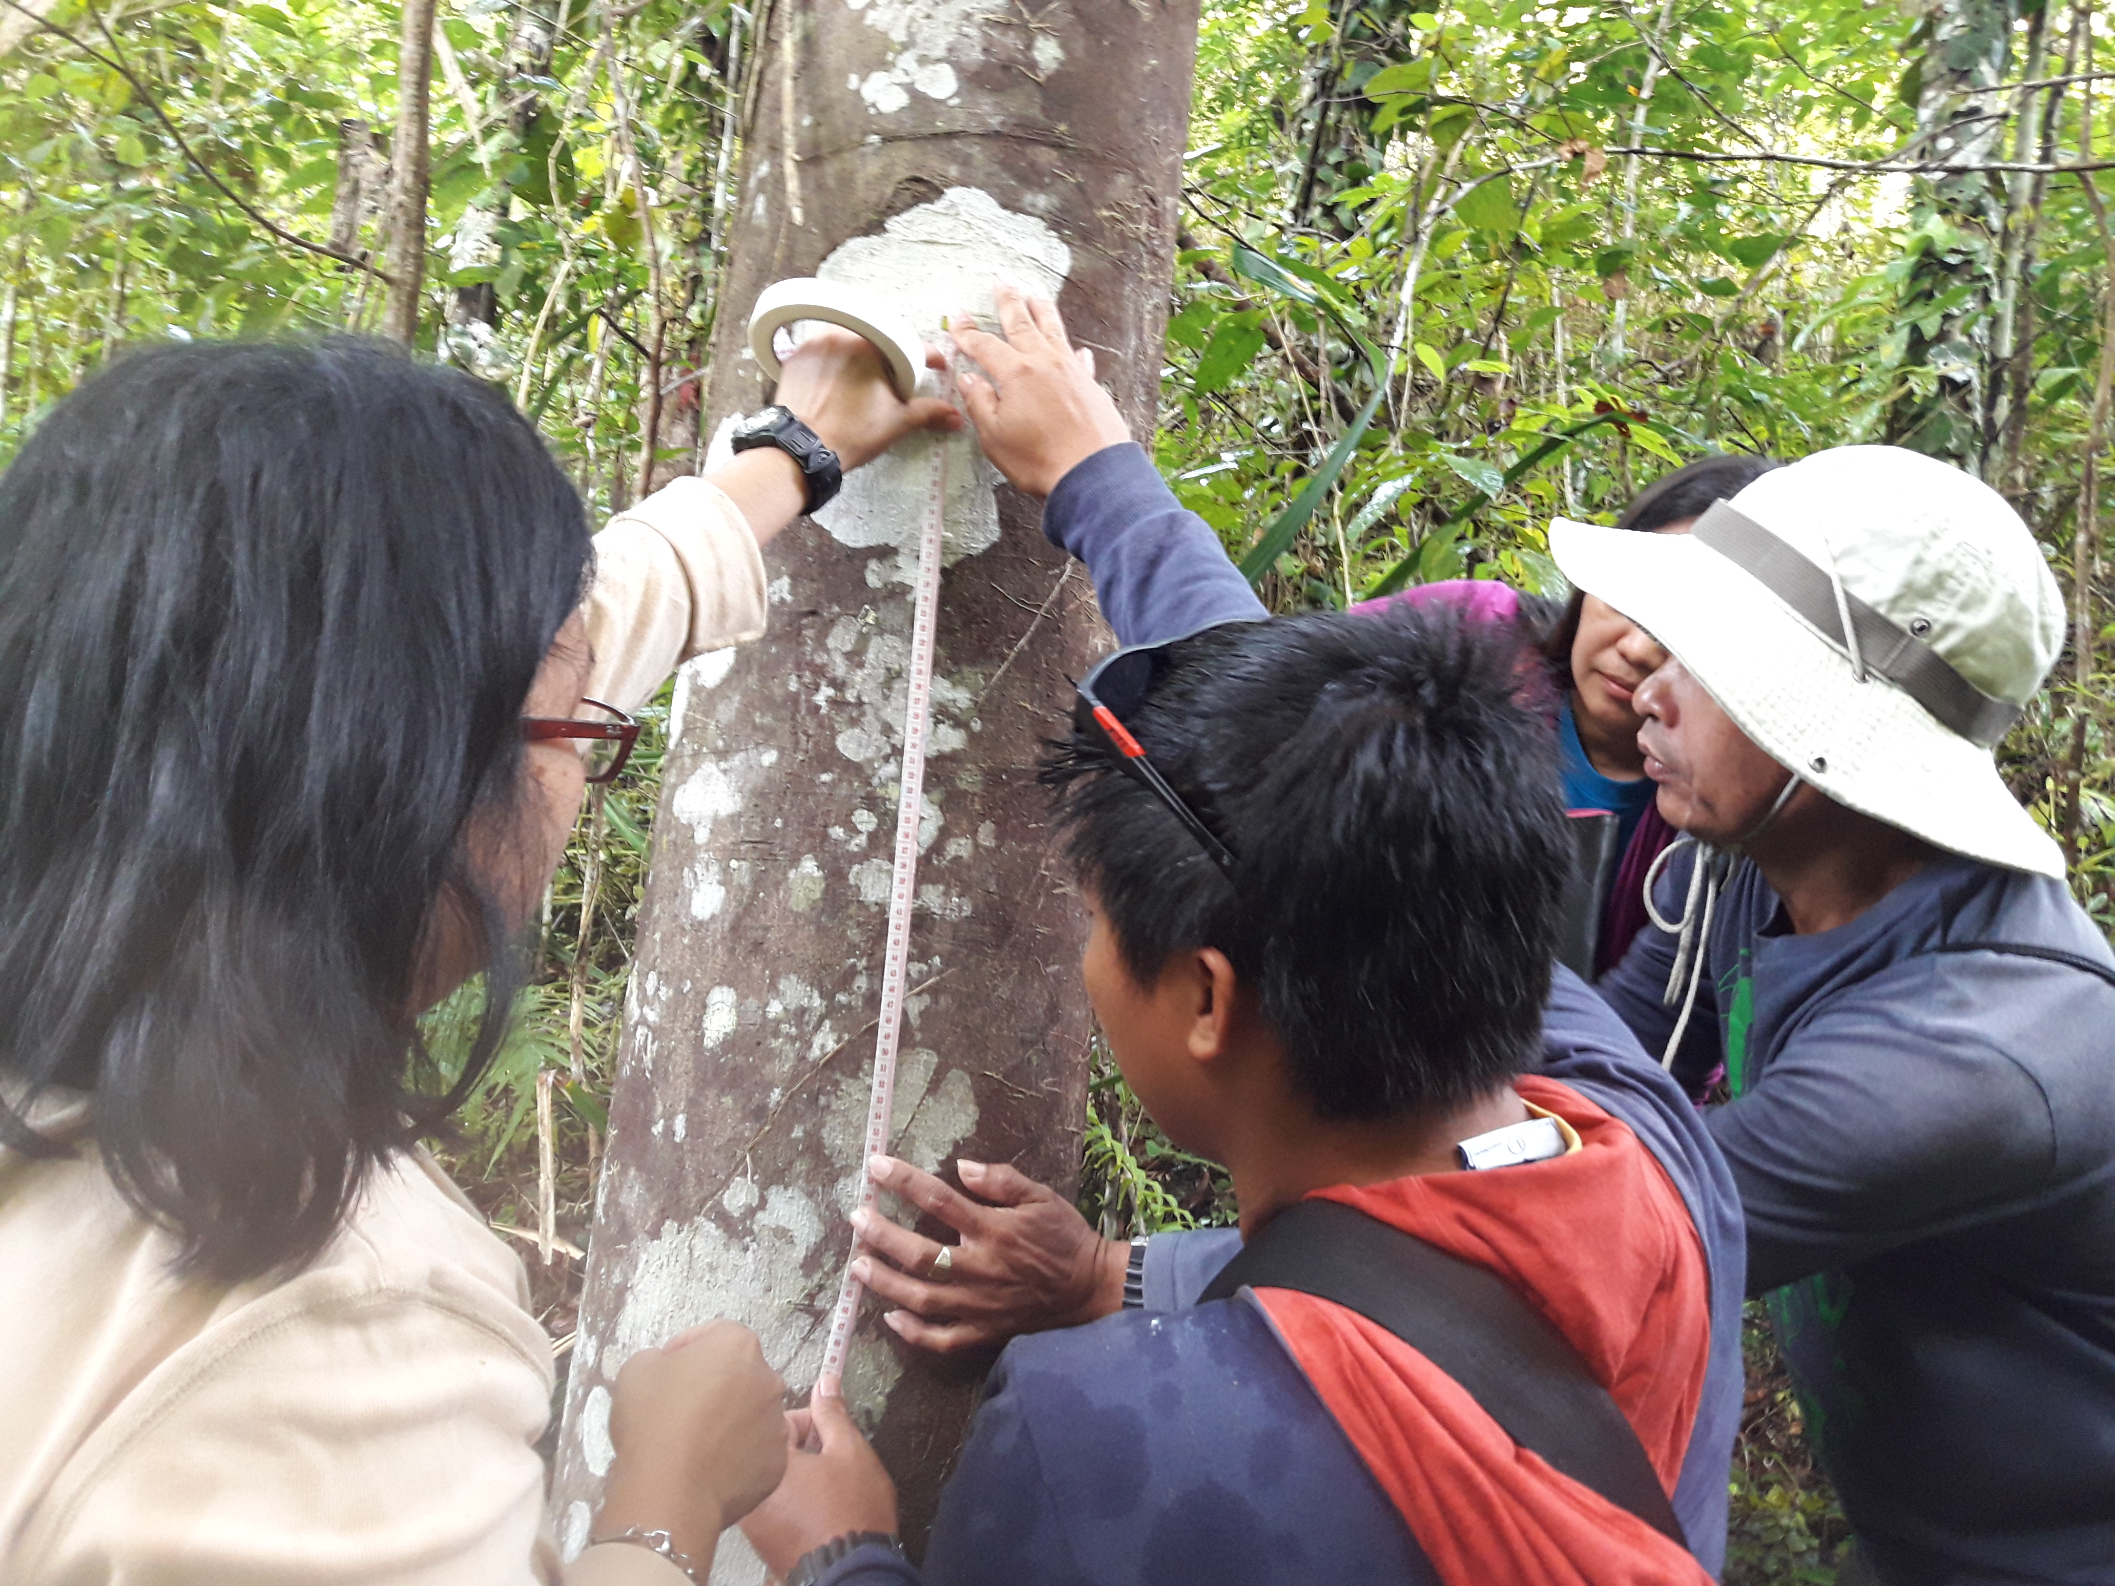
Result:
<instances>
[{"instance_id":1,"label":"blue sleeve of the raised arm reaching the trunk's white patch","mask_svg":"<svg viewBox=\"0 0 2115 1586\"><path fill-rule=\"evenodd\" d=\"M1271 615L1212 524L1176 501L1136 442L1104 446L1058 480L1043 503L1043 533L1087 563L1123 645Z\"/></svg>"}]
</instances>

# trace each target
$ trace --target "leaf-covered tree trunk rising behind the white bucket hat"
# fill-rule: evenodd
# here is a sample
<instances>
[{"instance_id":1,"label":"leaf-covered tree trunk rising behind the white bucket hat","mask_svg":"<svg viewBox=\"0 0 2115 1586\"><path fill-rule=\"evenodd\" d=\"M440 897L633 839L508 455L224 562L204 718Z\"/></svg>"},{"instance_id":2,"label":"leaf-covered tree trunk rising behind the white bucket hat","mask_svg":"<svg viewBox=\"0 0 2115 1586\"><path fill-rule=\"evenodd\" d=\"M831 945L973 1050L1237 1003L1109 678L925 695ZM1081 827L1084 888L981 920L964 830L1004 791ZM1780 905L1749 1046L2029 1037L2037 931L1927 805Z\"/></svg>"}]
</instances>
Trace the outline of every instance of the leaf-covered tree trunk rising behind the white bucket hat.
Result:
<instances>
[{"instance_id":1,"label":"leaf-covered tree trunk rising behind the white bucket hat","mask_svg":"<svg viewBox=\"0 0 2115 1586\"><path fill-rule=\"evenodd\" d=\"M1937 0L1920 63L1916 129L1931 159L1992 161L2005 148L2005 63L2013 0ZM1918 182L1912 262L1895 319L1904 355L1887 440L1978 478L1992 459L1992 321L2001 296L2005 178L1990 171ZM1965 288L1965 290L1963 290Z\"/></svg>"}]
</instances>

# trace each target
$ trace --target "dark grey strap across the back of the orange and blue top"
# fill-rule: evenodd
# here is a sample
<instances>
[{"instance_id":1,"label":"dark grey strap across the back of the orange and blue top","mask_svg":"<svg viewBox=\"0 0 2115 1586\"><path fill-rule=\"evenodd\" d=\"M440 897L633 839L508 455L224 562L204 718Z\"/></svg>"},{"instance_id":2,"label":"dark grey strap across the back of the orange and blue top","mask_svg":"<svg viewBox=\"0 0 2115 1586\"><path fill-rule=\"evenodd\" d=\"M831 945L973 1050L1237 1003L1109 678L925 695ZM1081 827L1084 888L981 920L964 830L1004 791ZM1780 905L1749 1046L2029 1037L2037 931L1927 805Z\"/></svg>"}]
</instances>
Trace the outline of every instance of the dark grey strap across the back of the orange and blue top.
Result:
<instances>
[{"instance_id":1,"label":"dark grey strap across the back of the orange and blue top","mask_svg":"<svg viewBox=\"0 0 2115 1586\"><path fill-rule=\"evenodd\" d=\"M1299 1201L1242 1246L1199 1305L1290 1288L1387 1328L1455 1379L1519 1446L1688 1546L1631 1421L1497 1273L1337 1201Z\"/></svg>"}]
</instances>

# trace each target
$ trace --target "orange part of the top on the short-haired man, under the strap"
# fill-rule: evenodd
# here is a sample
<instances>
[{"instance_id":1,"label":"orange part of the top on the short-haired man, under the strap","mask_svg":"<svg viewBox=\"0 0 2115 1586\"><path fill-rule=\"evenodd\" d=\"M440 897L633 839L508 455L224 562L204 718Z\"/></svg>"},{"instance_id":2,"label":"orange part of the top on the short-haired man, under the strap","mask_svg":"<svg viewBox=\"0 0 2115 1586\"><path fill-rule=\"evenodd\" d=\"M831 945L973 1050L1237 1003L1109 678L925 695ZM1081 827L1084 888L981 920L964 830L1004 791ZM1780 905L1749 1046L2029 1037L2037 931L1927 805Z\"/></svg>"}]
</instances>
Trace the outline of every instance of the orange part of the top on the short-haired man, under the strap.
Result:
<instances>
[{"instance_id":1,"label":"orange part of the top on the short-haired man, under the strap","mask_svg":"<svg viewBox=\"0 0 2115 1586\"><path fill-rule=\"evenodd\" d=\"M1523 1076L1516 1091L1569 1123L1580 1148L1320 1197L1512 1284L1580 1351L1673 1489L1711 1347L1703 1241L1629 1125L1552 1078ZM1684 1548L1519 1449L1385 1328L1311 1294L1256 1298L1449 1586L1707 1586Z\"/></svg>"}]
</instances>

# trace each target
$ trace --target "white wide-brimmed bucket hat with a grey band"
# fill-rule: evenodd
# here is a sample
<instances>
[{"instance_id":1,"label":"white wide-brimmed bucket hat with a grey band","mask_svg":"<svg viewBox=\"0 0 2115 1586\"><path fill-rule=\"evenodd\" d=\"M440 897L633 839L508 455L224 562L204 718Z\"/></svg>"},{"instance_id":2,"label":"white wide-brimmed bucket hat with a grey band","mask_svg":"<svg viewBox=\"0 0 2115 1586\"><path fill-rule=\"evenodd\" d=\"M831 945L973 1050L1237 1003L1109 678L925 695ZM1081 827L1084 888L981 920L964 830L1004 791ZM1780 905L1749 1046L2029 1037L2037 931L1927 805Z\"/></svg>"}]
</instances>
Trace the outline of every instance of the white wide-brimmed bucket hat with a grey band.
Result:
<instances>
[{"instance_id":1,"label":"white wide-brimmed bucket hat with a grey band","mask_svg":"<svg viewBox=\"0 0 2115 1586\"><path fill-rule=\"evenodd\" d=\"M1990 751L2056 664L2064 605L1988 484L1899 446L1840 446L1764 474L1690 535L1559 518L1550 554L1800 780L1956 854L2062 878Z\"/></svg>"}]
</instances>

